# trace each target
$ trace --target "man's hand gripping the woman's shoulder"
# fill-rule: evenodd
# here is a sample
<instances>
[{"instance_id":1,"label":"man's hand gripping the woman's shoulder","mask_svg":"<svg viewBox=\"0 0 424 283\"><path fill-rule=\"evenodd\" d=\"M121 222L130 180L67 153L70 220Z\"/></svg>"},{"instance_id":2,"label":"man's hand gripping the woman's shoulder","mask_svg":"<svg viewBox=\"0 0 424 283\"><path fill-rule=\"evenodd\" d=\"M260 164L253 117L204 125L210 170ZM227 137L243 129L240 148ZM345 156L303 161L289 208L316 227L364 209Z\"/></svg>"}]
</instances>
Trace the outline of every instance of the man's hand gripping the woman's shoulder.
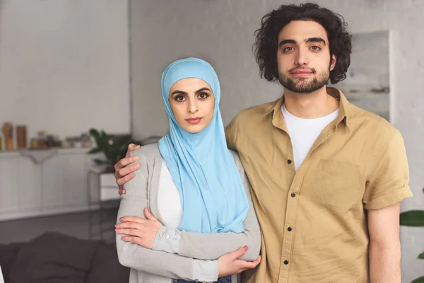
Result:
<instances>
[{"instance_id":1,"label":"man's hand gripping the woman's shoulder","mask_svg":"<svg viewBox=\"0 0 424 283\"><path fill-rule=\"evenodd\" d=\"M119 187L119 195L125 194L124 184L134 178L133 172L140 168L140 164L134 164L133 166L125 167L129 163L133 163L139 160L139 156L129 156L131 151L134 151L134 149L139 149L139 147L140 146L136 146L135 144L129 144L125 157L114 165L115 179L117 180L117 185Z\"/></svg>"}]
</instances>

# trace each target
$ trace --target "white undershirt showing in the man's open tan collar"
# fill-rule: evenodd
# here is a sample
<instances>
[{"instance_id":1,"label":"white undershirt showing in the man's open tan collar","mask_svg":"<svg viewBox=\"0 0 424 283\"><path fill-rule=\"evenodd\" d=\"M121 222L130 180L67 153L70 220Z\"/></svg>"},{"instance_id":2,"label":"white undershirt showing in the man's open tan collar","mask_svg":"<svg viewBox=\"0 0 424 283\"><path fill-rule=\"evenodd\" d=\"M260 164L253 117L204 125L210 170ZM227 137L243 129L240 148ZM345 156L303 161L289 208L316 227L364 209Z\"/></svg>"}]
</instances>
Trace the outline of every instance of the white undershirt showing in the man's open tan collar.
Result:
<instances>
[{"instance_id":1,"label":"white undershirt showing in the man's open tan collar","mask_svg":"<svg viewBox=\"0 0 424 283\"><path fill-rule=\"evenodd\" d=\"M329 115L315 119L295 117L285 109L285 105L281 106L281 112L283 112L288 134L290 134L293 147L293 158L295 159L295 170L297 171L319 134L321 134L322 130L329 125L331 121L336 119L338 109Z\"/></svg>"}]
</instances>

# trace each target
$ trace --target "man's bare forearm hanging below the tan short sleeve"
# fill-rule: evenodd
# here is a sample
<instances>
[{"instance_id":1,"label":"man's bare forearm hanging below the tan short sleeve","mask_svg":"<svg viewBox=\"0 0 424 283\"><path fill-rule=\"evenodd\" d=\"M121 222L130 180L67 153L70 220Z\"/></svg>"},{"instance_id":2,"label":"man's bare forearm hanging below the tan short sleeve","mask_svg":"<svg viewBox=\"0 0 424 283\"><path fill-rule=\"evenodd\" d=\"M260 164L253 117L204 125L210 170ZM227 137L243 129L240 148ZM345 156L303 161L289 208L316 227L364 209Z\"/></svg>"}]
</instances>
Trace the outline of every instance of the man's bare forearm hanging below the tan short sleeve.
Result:
<instances>
[{"instance_id":1,"label":"man's bare forearm hanging below the tan short sleeve","mask_svg":"<svg viewBox=\"0 0 424 283\"><path fill-rule=\"evenodd\" d=\"M371 283L401 283L400 207L368 210Z\"/></svg>"}]
</instances>

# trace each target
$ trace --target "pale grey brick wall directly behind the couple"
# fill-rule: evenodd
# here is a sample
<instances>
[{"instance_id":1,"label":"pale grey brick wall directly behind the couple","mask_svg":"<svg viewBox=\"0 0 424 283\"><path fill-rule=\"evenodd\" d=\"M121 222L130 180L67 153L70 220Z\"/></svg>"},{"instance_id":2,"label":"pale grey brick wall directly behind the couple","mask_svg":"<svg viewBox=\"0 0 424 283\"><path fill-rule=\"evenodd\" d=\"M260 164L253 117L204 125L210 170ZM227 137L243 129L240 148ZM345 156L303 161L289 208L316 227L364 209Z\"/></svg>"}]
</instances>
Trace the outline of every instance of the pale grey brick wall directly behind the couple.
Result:
<instances>
[{"instance_id":1,"label":"pale grey brick wall directly behind the couple","mask_svg":"<svg viewBox=\"0 0 424 283\"><path fill-rule=\"evenodd\" d=\"M302 3L304 1L285 1ZM424 1L321 0L341 13L351 33L391 30L392 120L404 135L414 197L403 210L423 209L424 195ZM223 89L224 124L252 105L281 96L281 87L259 79L252 56L253 32L280 0L131 1L133 132L136 137L167 132L160 76L179 57L202 57L216 68ZM424 229L401 227L402 282L424 275Z\"/></svg>"}]
</instances>

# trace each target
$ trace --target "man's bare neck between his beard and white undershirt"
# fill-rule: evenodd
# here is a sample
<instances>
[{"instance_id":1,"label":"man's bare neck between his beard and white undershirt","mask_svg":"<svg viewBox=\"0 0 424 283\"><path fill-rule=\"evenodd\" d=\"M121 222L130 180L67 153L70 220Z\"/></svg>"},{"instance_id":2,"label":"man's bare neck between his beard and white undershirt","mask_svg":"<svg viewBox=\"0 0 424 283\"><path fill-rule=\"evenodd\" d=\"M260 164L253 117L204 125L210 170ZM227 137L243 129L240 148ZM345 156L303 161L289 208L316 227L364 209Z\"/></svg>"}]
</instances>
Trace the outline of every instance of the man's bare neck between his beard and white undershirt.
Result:
<instances>
[{"instance_id":1,"label":"man's bare neck between his beard and white undershirt","mask_svg":"<svg viewBox=\"0 0 424 283\"><path fill-rule=\"evenodd\" d=\"M326 93L326 86L312 93L295 93L284 88L284 106L302 119L324 117L338 109L338 100Z\"/></svg>"}]
</instances>

